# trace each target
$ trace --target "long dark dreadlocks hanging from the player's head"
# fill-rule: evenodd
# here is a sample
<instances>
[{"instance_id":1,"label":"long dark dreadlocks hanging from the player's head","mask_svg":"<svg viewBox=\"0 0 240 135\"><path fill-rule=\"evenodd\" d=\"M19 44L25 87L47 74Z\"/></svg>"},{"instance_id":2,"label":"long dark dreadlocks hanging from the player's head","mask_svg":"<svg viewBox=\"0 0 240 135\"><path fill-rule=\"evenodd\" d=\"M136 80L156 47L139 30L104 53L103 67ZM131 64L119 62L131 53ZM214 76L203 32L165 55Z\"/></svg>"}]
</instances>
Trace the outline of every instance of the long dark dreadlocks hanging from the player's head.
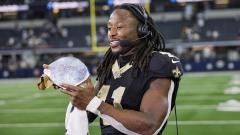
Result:
<instances>
[{"instance_id":1,"label":"long dark dreadlocks hanging from the player's head","mask_svg":"<svg viewBox=\"0 0 240 135\"><path fill-rule=\"evenodd\" d=\"M138 8L139 13L135 8ZM147 38L142 39L142 43L136 46L135 53L130 60L130 64L133 65L133 74L137 76L140 71L145 72L153 51L163 51L165 49L165 41L162 34L158 31L157 25L154 23L153 19L147 14L145 19L143 16L144 10L140 5L134 4L122 4L114 7L115 9L126 9L130 11L139 21L139 23L147 23L148 30L151 32ZM100 84L103 84L107 78L111 77L112 65L116 61L118 56L113 55L111 48L109 48L103 57L102 63L97 69L97 78Z\"/></svg>"}]
</instances>

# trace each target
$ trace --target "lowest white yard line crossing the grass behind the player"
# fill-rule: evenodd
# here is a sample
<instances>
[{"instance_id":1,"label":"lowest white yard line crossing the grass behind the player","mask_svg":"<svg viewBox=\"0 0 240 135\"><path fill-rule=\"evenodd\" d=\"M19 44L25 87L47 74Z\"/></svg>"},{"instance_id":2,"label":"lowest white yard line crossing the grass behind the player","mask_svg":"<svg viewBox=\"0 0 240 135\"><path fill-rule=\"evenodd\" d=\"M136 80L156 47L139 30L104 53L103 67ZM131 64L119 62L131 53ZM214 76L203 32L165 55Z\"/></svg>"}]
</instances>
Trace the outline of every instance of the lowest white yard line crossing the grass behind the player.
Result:
<instances>
[{"instance_id":1,"label":"lowest white yard line crossing the grass behind the player","mask_svg":"<svg viewBox=\"0 0 240 135\"><path fill-rule=\"evenodd\" d=\"M175 126L175 121L168 121L168 125ZM178 121L180 126L224 126L240 125L240 120L199 120L199 121ZM93 122L90 126L99 126L98 122ZM64 122L54 123L4 123L0 128L54 128L64 127Z\"/></svg>"}]
</instances>

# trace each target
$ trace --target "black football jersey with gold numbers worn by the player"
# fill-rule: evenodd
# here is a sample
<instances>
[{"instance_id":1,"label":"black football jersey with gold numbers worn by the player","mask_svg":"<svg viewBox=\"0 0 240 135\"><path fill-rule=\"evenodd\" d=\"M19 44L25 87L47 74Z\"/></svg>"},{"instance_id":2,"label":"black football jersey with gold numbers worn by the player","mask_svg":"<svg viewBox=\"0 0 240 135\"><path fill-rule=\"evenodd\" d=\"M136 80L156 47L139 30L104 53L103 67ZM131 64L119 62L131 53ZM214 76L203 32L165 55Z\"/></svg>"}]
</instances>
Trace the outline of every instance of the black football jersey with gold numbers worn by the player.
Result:
<instances>
[{"instance_id":1,"label":"black football jersey with gold numbers worn by the player","mask_svg":"<svg viewBox=\"0 0 240 135\"><path fill-rule=\"evenodd\" d=\"M116 60L112 66L112 77L101 87L98 97L116 108L139 111L141 100L148 90L150 82L157 78L169 78L175 84L171 102L172 109L175 105L178 84L183 74L179 59L167 52L153 52L145 73L140 72L135 78L132 76L133 68L129 61L130 58ZM123 134L102 119L100 125L103 135ZM159 133L162 130L163 128Z\"/></svg>"}]
</instances>

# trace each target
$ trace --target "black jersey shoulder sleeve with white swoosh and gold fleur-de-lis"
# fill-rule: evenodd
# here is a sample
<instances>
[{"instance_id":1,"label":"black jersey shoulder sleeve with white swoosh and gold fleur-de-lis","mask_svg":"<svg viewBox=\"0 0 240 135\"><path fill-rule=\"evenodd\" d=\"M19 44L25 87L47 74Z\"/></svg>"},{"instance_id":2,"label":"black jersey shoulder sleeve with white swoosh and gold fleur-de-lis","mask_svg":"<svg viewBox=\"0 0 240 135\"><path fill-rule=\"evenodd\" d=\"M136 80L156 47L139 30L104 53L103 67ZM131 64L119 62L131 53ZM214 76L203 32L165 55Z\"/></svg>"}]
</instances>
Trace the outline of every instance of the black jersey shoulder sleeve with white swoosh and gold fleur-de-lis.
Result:
<instances>
[{"instance_id":1,"label":"black jersey shoulder sleeve with white swoosh and gold fleur-de-lis","mask_svg":"<svg viewBox=\"0 0 240 135\"><path fill-rule=\"evenodd\" d=\"M178 80L183 75L179 58L168 52L154 52L149 65L150 78Z\"/></svg>"}]
</instances>

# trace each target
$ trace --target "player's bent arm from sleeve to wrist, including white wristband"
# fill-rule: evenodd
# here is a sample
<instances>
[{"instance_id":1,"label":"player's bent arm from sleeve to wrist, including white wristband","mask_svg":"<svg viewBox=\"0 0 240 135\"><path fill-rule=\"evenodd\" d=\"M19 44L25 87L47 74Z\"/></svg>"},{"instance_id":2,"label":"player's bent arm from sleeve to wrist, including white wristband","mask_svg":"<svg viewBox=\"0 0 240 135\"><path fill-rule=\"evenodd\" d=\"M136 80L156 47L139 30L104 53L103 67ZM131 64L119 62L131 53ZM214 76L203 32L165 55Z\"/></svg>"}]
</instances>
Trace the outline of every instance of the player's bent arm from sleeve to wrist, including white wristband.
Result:
<instances>
[{"instance_id":1,"label":"player's bent arm from sleeve to wrist, including white wristband","mask_svg":"<svg viewBox=\"0 0 240 135\"><path fill-rule=\"evenodd\" d=\"M153 81L144 94L140 111L116 109L97 97L90 101L86 110L99 115L122 133L152 135L161 130L170 115L172 94L168 90L174 88L172 84L168 79Z\"/></svg>"}]
</instances>

